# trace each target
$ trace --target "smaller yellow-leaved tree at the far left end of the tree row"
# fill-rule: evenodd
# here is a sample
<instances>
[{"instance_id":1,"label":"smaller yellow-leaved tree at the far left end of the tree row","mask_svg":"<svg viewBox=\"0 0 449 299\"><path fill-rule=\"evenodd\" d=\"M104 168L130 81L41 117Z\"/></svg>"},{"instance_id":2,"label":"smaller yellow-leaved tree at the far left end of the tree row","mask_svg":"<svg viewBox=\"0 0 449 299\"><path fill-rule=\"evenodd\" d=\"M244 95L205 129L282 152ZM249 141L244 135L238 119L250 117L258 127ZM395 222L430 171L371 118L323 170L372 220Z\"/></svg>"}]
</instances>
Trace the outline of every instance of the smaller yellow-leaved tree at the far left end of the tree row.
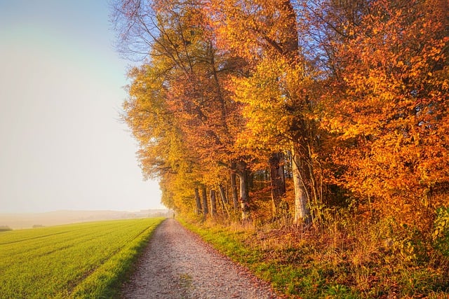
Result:
<instances>
[{"instance_id":1,"label":"smaller yellow-leaved tree at the far left end of the tree row","mask_svg":"<svg viewBox=\"0 0 449 299\"><path fill-rule=\"evenodd\" d=\"M138 140L138 158L145 178L160 179L162 202L185 210L191 187L199 180L198 156L189 152L179 123L165 101L164 76L152 64L129 73L130 97L123 104L123 119ZM198 209L197 211L200 211Z\"/></svg>"}]
</instances>

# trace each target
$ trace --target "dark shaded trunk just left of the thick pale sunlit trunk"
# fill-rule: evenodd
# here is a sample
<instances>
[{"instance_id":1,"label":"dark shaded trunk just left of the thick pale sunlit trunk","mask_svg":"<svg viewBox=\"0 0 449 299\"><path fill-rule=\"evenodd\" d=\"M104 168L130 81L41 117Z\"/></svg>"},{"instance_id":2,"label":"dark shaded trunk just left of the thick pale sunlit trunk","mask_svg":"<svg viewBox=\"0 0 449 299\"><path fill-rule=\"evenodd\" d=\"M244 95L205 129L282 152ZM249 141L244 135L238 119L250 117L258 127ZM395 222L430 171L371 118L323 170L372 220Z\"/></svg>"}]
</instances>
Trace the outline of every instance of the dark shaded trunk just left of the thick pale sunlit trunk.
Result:
<instances>
[{"instance_id":1,"label":"dark shaded trunk just left of the thick pale sunlit trunk","mask_svg":"<svg viewBox=\"0 0 449 299\"><path fill-rule=\"evenodd\" d=\"M272 153L269 157L269 176L272 186L272 216L276 216L282 197L286 194L286 178L283 173L283 153Z\"/></svg>"}]
</instances>

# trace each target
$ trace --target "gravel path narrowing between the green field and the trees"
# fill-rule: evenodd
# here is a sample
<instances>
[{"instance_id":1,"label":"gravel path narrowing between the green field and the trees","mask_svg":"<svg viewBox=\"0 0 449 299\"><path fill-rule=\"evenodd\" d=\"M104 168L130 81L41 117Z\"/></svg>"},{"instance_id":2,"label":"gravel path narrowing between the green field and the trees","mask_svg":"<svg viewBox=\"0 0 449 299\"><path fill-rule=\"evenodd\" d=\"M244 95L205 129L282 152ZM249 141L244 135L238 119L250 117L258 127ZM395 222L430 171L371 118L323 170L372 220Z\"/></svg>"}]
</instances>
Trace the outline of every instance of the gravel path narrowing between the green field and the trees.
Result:
<instances>
[{"instance_id":1,"label":"gravel path narrowing between the green field and the trees","mask_svg":"<svg viewBox=\"0 0 449 299\"><path fill-rule=\"evenodd\" d=\"M174 219L154 231L124 298L278 298Z\"/></svg>"}]
</instances>

